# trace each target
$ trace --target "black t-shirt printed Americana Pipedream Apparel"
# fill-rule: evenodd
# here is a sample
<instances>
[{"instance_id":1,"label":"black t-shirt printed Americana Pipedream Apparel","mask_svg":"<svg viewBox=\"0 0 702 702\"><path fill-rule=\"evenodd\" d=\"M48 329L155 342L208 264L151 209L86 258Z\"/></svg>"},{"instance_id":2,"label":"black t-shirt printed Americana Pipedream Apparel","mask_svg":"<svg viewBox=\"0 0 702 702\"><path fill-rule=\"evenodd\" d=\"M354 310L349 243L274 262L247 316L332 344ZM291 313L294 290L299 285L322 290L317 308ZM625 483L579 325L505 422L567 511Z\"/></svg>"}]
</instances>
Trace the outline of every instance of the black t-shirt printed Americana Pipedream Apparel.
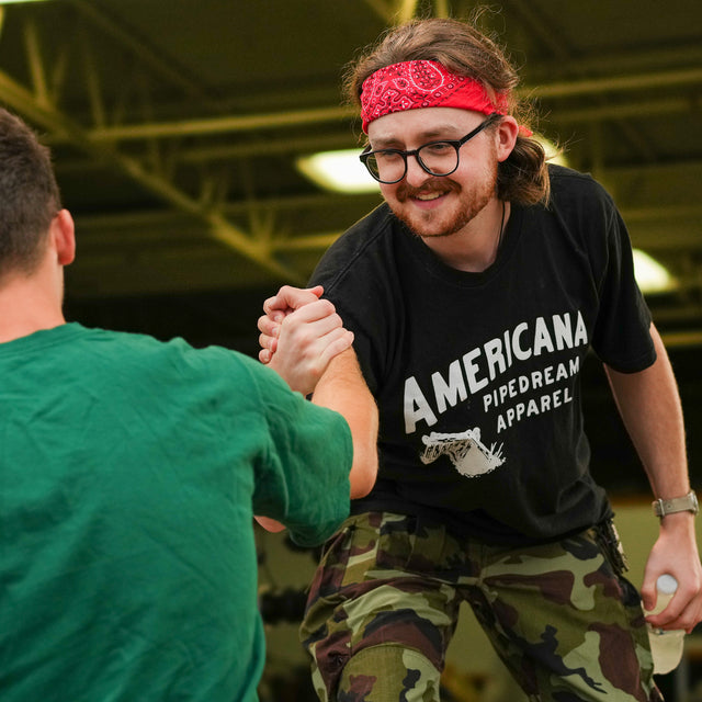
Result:
<instances>
[{"instance_id":1,"label":"black t-shirt printed Americana Pipedream Apparel","mask_svg":"<svg viewBox=\"0 0 702 702\"><path fill-rule=\"evenodd\" d=\"M381 468L354 511L423 514L486 541L556 539L605 518L580 370L655 361L629 235L590 177L551 167L548 207L512 205L497 260L442 263L387 205L312 282L348 328L381 417Z\"/></svg>"}]
</instances>

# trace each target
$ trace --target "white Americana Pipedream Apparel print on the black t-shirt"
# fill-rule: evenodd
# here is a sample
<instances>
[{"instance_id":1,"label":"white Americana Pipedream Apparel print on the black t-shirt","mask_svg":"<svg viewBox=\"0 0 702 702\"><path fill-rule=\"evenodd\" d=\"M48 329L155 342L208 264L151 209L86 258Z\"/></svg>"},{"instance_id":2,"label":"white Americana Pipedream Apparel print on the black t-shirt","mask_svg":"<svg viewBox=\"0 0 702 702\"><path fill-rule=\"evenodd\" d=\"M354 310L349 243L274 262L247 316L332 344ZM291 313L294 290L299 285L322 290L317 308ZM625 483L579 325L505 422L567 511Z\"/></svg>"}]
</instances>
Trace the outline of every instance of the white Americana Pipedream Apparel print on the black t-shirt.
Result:
<instances>
[{"instance_id":1,"label":"white Americana Pipedream Apparel print on the black t-shirt","mask_svg":"<svg viewBox=\"0 0 702 702\"><path fill-rule=\"evenodd\" d=\"M488 446L482 435L499 438L517 422L573 401L570 384L566 381L579 373L580 355L553 363L550 354L588 343L580 312L536 317L471 349L451 362L448 372L432 373L431 388L422 390L415 376L408 377L404 393L406 433L433 427L443 412L468 397L480 398L487 422L483 429L469 427L458 433L423 434L421 462L433 463L446 455L466 477L484 475L502 465L506 462L502 444L496 441ZM534 370L534 359L542 358L540 367ZM532 370L500 383L508 370L530 360Z\"/></svg>"}]
</instances>

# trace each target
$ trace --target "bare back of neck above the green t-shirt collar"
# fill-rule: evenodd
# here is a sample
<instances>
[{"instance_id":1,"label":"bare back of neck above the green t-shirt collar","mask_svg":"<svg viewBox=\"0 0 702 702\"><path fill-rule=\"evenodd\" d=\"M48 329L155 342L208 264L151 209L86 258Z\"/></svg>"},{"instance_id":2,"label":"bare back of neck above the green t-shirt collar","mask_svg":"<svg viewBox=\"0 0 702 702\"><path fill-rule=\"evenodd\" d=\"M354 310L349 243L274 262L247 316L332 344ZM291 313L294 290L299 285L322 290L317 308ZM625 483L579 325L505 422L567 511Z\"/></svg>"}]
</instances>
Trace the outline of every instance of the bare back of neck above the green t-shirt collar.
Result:
<instances>
[{"instance_id":1,"label":"bare back of neck above the green t-shirt collar","mask_svg":"<svg viewBox=\"0 0 702 702\"><path fill-rule=\"evenodd\" d=\"M0 343L65 324L60 295L33 276L0 281Z\"/></svg>"}]
</instances>

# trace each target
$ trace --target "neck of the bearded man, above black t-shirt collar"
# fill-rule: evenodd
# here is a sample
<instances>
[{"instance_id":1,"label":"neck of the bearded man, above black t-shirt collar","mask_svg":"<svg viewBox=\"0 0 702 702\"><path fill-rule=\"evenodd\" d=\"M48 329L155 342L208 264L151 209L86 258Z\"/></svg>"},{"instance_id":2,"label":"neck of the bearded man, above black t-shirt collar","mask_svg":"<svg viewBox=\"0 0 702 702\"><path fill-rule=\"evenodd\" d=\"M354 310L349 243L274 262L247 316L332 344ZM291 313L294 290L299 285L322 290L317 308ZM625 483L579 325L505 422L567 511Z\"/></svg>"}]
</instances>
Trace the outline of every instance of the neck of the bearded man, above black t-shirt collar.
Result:
<instances>
[{"instance_id":1,"label":"neck of the bearded man, above black t-shirt collar","mask_svg":"<svg viewBox=\"0 0 702 702\"><path fill-rule=\"evenodd\" d=\"M480 273L495 263L509 220L509 202L494 197L455 234L423 237L424 244L449 267Z\"/></svg>"}]
</instances>

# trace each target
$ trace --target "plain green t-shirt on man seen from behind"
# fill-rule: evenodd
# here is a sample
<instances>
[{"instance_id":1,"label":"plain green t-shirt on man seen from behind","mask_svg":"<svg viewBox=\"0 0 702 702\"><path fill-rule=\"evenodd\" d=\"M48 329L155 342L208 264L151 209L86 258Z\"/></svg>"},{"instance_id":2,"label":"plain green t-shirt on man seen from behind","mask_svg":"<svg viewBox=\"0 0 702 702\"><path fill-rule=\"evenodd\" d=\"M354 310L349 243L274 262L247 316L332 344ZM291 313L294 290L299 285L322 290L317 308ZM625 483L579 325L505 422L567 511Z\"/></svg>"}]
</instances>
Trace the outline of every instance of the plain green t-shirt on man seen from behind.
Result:
<instances>
[{"instance_id":1,"label":"plain green t-shirt on man seen from behind","mask_svg":"<svg viewBox=\"0 0 702 702\"><path fill-rule=\"evenodd\" d=\"M252 516L324 541L351 457L343 418L233 351L0 344L0 699L256 700Z\"/></svg>"}]
</instances>

